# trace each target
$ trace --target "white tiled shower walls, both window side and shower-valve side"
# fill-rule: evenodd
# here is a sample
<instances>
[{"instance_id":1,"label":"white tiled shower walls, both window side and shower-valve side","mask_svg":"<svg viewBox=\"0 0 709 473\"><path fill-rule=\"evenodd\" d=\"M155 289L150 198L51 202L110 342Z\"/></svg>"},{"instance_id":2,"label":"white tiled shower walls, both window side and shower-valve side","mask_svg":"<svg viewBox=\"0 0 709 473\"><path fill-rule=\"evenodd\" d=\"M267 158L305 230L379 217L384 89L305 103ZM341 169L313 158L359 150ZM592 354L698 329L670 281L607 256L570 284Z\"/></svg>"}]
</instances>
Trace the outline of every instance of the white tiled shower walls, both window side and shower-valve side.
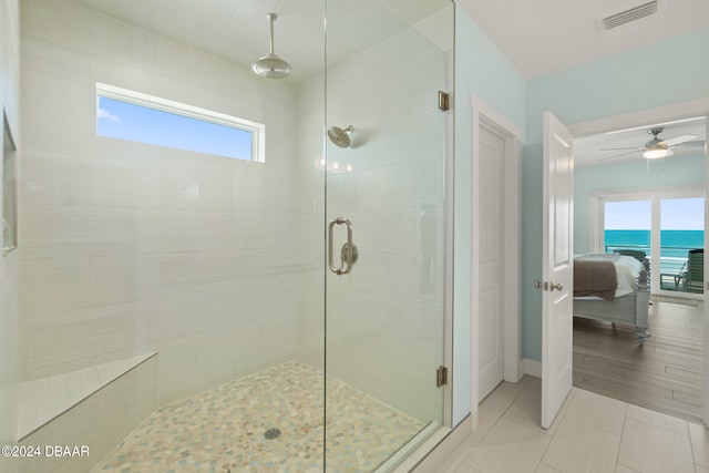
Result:
<instances>
[{"instance_id":1,"label":"white tiled shower walls, both window side and shower-valve side","mask_svg":"<svg viewBox=\"0 0 709 473\"><path fill-rule=\"evenodd\" d=\"M321 367L322 78L256 78L65 0L23 1L22 60L25 379L158 351L165 402ZM327 217L360 248L327 275L328 369L422 420L442 409L445 70L405 30L328 78L328 121L356 134L328 145L352 172L329 174ZM266 163L97 137L96 81L265 123Z\"/></svg>"}]
</instances>

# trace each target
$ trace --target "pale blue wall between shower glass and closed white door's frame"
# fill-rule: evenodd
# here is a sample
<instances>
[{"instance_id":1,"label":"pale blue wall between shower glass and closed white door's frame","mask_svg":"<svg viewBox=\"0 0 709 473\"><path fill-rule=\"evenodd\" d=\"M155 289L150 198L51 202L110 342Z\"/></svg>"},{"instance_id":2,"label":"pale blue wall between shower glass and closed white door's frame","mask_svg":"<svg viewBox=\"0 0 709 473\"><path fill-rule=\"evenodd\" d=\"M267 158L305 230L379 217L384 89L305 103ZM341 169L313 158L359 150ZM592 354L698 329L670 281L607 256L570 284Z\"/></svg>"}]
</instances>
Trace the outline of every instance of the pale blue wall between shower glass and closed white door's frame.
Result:
<instances>
[{"instance_id":1,"label":"pale blue wall between shower glass and closed white door's frame","mask_svg":"<svg viewBox=\"0 0 709 473\"><path fill-rule=\"evenodd\" d=\"M463 8L455 14L455 229L453 309L453 424L471 412L471 93L525 130L524 78L485 37Z\"/></svg>"}]
</instances>

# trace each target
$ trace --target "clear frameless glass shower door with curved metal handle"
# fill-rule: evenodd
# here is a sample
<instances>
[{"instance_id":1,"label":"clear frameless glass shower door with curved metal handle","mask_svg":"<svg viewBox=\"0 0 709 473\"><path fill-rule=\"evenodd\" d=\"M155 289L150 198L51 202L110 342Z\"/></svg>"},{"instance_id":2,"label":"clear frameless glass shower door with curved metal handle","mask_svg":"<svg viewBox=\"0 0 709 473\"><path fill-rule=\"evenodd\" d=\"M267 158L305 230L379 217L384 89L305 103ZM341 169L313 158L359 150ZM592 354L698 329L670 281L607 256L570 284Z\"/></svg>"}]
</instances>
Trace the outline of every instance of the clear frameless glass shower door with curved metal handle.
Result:
<instances>
[{"instance_id":1,"label":"clear frameless glass shower door with curved metal handle","mask_svg":"<svg viewBox=\"0 0 709 473\"><path fill-rule=\"evenodd\" d=\"M389 470L443 423L450 1L327 1L326 470Z\"/></svg>"}]
</instances>

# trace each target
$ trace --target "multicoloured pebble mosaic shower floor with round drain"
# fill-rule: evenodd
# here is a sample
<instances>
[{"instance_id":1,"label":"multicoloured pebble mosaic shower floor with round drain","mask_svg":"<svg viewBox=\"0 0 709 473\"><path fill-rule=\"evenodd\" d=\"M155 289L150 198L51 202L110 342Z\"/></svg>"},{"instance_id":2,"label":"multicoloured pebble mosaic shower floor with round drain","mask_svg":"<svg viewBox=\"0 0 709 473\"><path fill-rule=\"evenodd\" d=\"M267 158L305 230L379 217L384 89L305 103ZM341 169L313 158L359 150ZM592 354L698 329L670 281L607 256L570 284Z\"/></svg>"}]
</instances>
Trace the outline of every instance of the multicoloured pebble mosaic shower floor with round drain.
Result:
<instances>
[{"instance_id":1,"label":"multicoloured pebble mosaic shower floor with round drain","mask_svg":"<svg viewBox=\"0 0 709 473\"><path fill-rule=\"evenodd\" d=\"M294 360L165 405L92 473L321 472L322 384ZM327 402L328 472L370 472L424 426L330 377Z\"/></svg>"}]
</instances>

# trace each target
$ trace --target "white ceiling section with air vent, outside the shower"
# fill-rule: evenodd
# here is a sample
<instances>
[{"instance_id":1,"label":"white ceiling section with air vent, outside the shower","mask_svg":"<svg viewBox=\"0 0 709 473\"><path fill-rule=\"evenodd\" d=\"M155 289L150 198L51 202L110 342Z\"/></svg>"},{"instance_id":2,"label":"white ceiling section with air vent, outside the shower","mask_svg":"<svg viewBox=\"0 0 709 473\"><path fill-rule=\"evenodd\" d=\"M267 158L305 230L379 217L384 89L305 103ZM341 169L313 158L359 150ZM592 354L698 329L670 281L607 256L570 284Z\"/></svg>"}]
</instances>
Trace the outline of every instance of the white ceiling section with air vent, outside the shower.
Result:
<instances>
[{"instance_id":1,"label":"white ceiling section with air vent, outside the shower","mask_svg":"<svg viewBox=\"0 0 709 473\"><path fill-rule=\"evenodd\" d=\"M657 13L607 31L598 20L649 0L458 1L525 79L709 28L707 0L660 0Z\"/></svg>"}]
</instances>

